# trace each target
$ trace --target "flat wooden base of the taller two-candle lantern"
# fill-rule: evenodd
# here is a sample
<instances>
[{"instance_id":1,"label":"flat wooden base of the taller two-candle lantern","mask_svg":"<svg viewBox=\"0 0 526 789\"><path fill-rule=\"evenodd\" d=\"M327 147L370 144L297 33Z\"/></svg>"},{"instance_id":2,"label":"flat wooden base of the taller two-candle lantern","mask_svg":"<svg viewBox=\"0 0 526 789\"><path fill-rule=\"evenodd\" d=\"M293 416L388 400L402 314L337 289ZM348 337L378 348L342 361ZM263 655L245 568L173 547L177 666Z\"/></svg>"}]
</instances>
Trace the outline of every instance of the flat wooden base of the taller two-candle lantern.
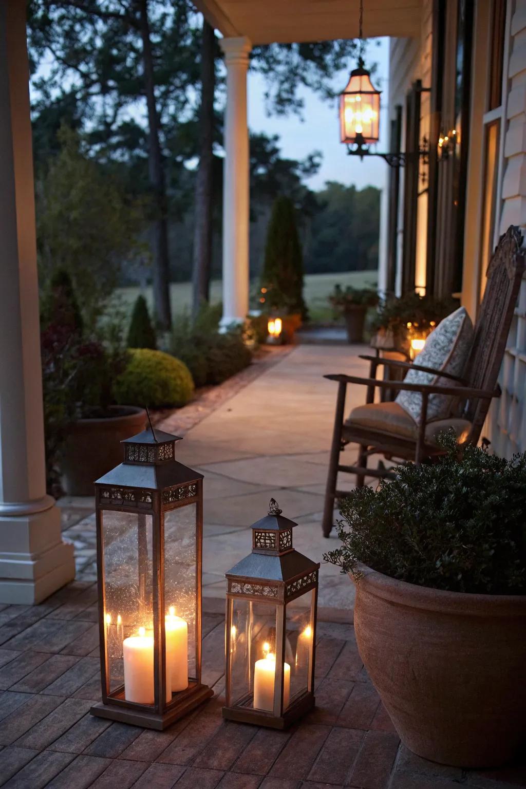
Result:
<instances>
[{"instance_id":1,"label":"flat wooden base of the taller two-candle lantern","mask_svg":"<svg viewBox=\"0 0 526 789\"><path fill-rule=\"evenodd\" d=\"M118 720L122 724L130 724L132 726L142 726L146 729L155 729L155 731L162 731L179 718L188 715L192 709L196 709L204 701L211 698L214 691L207 685L195 685L191 692L185 693L181 701L170 706L162 715L159 712L148 712L142 705L133 705L121 699L116 699L120 703L104 704L102 701L91 707L91 715L99 718L108 718L109 720Z\"/></svg>"}]
</instances>

